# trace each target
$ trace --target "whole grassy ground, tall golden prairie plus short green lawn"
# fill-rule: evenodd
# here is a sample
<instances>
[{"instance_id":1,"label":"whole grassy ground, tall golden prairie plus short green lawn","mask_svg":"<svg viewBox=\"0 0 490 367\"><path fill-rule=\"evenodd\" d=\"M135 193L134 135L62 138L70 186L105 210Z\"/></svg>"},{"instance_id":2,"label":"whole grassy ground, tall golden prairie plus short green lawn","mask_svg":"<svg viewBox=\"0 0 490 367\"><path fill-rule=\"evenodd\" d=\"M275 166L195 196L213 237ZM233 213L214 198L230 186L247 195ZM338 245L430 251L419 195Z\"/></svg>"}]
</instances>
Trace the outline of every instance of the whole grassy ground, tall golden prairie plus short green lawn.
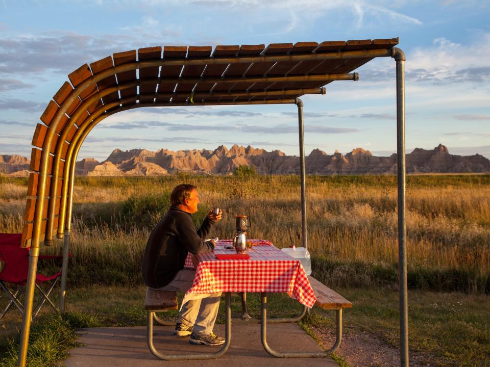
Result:
<instances>
[{"instance_id":1,"label":"whole grassy ground, tall golden prairie plus short green lawn","mask_svg":"<svg viewBox=\"0 0 490 367\"><path fill-rule=\"evenodd\" d=\"M47 307L41 310L31 335L39 358L35 365L66 358L68 349L77 346L76 327L145 325L144 246L169 206L171 189L184 182L198 186L196 225L210 207L223 209L213 235L231 238L235 215L247 214L250 238L269 239L279 248L301 246L297 176L77 177L68 312L60 319ZM26 178L0 176L0 232L21 231L26 192ZM378 340L371 344L373 350L396 350L397 178L307 176L306 194L312 275L354 304L345 312L343 345L356 348L364 338ZM406 203L411 365L490 365L490 175L410 175ZM59 254L61 246L55 240L52 247L42 246L41 253ZM41 271L55 268L39 263ZM274 297L279 301L271 302L272 314L295 314L297 302ZM0 301L7 302L5 295ZM250 302L252 314L258 312L257 296L251 295ZM238 316L239 307L234 307ZM16 365L21 319L15 311L0 322L0 356L5 360L0 365ZM322 342L334 328L332 316L314 308L301 325ZM55 329L60 340L52 339ZM45 350L57 352L46 355ZM338 353L342 366L367 365L352 360L342 347ZM386 363L398 364L396 358Z\"/></svg>"}]
</instances>

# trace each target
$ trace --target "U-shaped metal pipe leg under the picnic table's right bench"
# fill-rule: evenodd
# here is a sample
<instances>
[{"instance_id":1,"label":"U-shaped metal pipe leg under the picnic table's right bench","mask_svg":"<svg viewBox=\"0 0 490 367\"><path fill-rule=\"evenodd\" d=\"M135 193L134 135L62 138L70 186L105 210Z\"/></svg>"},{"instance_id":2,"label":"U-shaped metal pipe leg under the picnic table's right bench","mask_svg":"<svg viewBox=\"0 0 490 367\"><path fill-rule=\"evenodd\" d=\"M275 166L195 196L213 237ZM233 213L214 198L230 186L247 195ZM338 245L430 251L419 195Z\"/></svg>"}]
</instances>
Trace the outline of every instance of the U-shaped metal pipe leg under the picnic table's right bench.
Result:
<instances>
[{"instance_id":1,"label":"U-shaped metal pipe leg under the picnic table's right bench","mask_svg":"<svg viewBox=\"0 0 490 367\"><path fill-rule=\"evenodd\" d=\"M312 358L312 357L328 357L332 352L334 352L342 341L342 309L337 309L336 311L336 336L334 345L327 351L324 352L277 352L273 350L267 344L267 294L261 294L261 322L260 322L260 339L262 340L262 346L264 350L277 358Z\"/></svg>"}]
</instances>

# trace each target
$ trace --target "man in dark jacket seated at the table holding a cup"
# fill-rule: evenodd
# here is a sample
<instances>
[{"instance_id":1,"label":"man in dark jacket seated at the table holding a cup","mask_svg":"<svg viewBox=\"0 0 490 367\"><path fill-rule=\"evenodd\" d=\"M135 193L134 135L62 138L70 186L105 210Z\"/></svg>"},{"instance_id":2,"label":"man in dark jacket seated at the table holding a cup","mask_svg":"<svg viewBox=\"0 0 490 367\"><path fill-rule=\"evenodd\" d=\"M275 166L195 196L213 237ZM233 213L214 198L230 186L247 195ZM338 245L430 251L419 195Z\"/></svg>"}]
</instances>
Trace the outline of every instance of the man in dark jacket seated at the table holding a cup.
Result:
<instances>
[{"instance_id":1,"label":"man in dark jacket seated at the table holding a cup","mask_svg":"<svg viewBox=\"0 0 490 367\"><path fill-rule=\"evenodd\" d=\"M195 255L214 249L215 242L204 239L221 219L222 211L217 215L209 211L196 231L190 215L198 211L198 204L197 187L193 185L178 185L171 192L171 206L153 229L144 251L143 279L151 289L187 292L195 274L195 269L184 268L188 252ZM213 332L221 292L200 296L182 305L174 335L190 334L191 344L222 345L225 339Z\"/></svg>"}]
</instances>

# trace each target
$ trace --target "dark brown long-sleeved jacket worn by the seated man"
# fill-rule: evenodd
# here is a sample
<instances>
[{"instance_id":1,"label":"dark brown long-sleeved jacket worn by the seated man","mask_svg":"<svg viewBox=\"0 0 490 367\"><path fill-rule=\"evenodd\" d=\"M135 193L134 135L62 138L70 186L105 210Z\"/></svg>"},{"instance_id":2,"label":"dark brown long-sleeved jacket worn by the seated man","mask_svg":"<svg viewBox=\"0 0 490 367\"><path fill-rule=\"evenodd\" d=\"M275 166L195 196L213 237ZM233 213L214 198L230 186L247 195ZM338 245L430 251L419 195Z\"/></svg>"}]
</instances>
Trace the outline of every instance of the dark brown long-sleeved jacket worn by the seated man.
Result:
<instances>
[{"instance_id":1,"label":"dark brown long-sleeved jacket worn by the seated man","mask_svg":"<svg viewBox=\"0 0 490 367\"><path fill-rule=\"evenodd\" d=\"M146 243L142 264L145 284L152 288L165 286L184 269L189 251L193 254L212 251L213 244L203 240L213 224L214 221L206 217L196 231L189 213L170 206Z\"/></svg>"}]
</instances>

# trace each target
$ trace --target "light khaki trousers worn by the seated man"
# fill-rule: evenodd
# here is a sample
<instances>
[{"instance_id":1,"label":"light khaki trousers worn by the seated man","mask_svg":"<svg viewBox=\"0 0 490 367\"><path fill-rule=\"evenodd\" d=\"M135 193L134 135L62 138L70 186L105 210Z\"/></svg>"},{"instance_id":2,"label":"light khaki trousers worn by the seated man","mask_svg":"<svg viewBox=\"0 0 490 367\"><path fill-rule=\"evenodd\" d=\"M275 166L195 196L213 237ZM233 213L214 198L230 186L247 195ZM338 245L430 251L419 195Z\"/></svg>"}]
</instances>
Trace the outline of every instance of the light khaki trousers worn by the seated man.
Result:
<instances>
[{"instance_id":1,"label":"light khaki trousers worn by the seated man","mask_svg":"<svg viewBox=\"0 0 490 367\"><path fill-rule=\"evenodd\" d=\"M195 270L183 269L174 279L158 291L178 291L186 293L194 281ZM203 294L203 298L187 301L180 310L179 322L192 327L192 332L210 334L218 314L221 292Z\"/></svg>"}]
</instances>

